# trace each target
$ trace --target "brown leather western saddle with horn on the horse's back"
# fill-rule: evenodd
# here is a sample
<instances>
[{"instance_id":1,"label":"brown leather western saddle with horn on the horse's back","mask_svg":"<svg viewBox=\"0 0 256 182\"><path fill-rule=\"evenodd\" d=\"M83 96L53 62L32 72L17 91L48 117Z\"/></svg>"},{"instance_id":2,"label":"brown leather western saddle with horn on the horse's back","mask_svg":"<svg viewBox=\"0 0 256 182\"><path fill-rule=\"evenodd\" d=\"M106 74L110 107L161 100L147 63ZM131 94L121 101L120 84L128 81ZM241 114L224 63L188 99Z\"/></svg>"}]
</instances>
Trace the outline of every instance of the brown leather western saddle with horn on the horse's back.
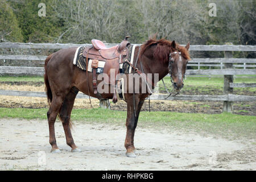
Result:
<instances>
[{"instance_id":1,"label":"brown leather western saddle with horn on the horse's back","mask_svg":"<svg viewBox=\"0 0 256 182\"><path fill-rule=\"evenodd\" d=\"M126 36L125 39L117 46L113 46L107 48L101 40L92 40L92 47L86 47L82 52L82 56L86 57L86 78L88 78L88 59L92 61L92 72L93 72L93 89L94 94L98 94L97 91L97 75L96 69L98 68L98 61L105 61L104 65L104 73L108 75L108 78L104 77L104 81L106 84L110 84L114 87L114 95L113 102L117 102L117 94L116 94L116 81L115 78L119 73L119 64L123 63L123 59L126 59L129 55L129 51L127 46L130 45L130 42L127 39L130 36ZM114 77L110 77L110 70L114 70ZM88 84L88 81L86 81ZM87 85L88 86L88 85ZM89 87L88 87L89 89ZM89 91L89 90L88 90Z\"/></svg>"}]
</instances>

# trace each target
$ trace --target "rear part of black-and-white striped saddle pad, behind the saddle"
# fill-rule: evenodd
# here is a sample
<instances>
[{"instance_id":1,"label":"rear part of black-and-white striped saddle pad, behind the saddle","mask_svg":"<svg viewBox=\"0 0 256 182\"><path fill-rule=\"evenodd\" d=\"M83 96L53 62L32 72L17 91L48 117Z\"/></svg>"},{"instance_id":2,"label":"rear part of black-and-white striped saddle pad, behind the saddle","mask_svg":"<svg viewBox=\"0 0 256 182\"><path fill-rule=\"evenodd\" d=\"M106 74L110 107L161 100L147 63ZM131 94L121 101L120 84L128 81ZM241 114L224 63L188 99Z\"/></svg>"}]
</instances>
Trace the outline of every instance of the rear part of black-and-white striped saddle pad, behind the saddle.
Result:
<instances>
[{"instance_id":1,"label":"rear part of black-and-white striped saddle pad, behind the saddle","mask_svg":"<svg viewBox=\"0 0 256 182\"><path fill-rule=\"evenodd\" d=\"M76 49L76 53L73 59L73 64L79 67L80 69L86 71L86 58L82 56L82 51L84 51L84 48L85 47L80 46ZM98 68L94 68L94 69L97 69L96 73L98 74L103 73L104 65L105 65L105 61L98 61ZM92 60L90 59L88 60L88 72L92 72Z\"/></svg>"}]
</instances>

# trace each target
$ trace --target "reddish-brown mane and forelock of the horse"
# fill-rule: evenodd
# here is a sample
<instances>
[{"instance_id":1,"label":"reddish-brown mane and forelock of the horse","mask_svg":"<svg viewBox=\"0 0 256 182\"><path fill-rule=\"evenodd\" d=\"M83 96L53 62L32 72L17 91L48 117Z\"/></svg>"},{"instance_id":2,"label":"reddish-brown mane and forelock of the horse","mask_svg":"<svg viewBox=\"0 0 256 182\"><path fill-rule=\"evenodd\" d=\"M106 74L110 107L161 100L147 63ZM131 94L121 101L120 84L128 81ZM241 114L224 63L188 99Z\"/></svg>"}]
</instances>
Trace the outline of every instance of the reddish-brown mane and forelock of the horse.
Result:
<instances>
[{"instance_id":1,"label":"reddish-brown mane and forelock of the horse","mask_svg":"<svg viewBox=\"0 0 256 182\"><path fill-rule=\"evenodd\" d=\"M172 42L170 42L169 40L166 40L166 39L147 40L147 42L142 44L142 46L141 46L141 55L146 51L147 48L156 44L157 46L156 46L155 52L153 54L154 58L157 60L163 60L163 63L168 63L171 50L172 51L176 51L176 50L180 51L181 56L183 56L187 60L190 60L189 51L185 47L180 46L179 44L176 43L176 48L173 49L171 47L171 43Z\"/></svg>"}]
</instances>

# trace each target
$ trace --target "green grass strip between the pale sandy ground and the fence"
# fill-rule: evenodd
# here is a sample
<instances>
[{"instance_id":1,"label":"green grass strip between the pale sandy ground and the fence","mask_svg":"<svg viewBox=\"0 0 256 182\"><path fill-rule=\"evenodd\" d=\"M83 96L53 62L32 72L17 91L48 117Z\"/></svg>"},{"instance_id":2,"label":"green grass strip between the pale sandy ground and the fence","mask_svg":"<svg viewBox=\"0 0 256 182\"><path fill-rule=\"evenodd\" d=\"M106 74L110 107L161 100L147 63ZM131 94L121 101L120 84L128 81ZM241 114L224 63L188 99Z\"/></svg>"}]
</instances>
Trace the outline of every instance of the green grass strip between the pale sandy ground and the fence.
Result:
<instances>
[{"instance_id":1,"label":"green grass strip between the pale sandy ground and the fence","mask_svg":"<svg viewBox=\"0 0 256 182\"><path fill-rule=\"evenodd\" d=\"M0 108L0 118L47 119L48 109ZM125 125L126 111L106 109L73 109L72 121L80 123L112 123ZM222 137L255 138L256 117L249 115L176 113L170 111L142 111L139 115L140 127L180 130Z\"/></svg>"}]
</instances>

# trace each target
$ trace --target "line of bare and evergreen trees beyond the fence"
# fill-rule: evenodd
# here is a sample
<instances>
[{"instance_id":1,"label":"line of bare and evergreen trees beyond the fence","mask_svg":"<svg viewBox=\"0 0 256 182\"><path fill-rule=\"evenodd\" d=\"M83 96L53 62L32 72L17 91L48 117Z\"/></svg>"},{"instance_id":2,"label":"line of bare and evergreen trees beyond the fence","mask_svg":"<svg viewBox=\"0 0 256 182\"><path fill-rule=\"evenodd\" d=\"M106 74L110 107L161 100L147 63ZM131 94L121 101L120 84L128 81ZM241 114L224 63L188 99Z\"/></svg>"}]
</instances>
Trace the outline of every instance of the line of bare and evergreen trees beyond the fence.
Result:
<instances>
[{"instance_id":1,"label":"line of bare and evergreen trees beyond the fence","mask_svg":"<svg viewBox=\"0 0 256 182\"><path fill-rule=\"evenodd\" d=\"M210 16L209 3L216 4ZM46 16L39 16L39 3ZM131 43L150 36L180 44L255 45L255 0L0 0L0 42Z\"/></svg>"}]
</instances>

